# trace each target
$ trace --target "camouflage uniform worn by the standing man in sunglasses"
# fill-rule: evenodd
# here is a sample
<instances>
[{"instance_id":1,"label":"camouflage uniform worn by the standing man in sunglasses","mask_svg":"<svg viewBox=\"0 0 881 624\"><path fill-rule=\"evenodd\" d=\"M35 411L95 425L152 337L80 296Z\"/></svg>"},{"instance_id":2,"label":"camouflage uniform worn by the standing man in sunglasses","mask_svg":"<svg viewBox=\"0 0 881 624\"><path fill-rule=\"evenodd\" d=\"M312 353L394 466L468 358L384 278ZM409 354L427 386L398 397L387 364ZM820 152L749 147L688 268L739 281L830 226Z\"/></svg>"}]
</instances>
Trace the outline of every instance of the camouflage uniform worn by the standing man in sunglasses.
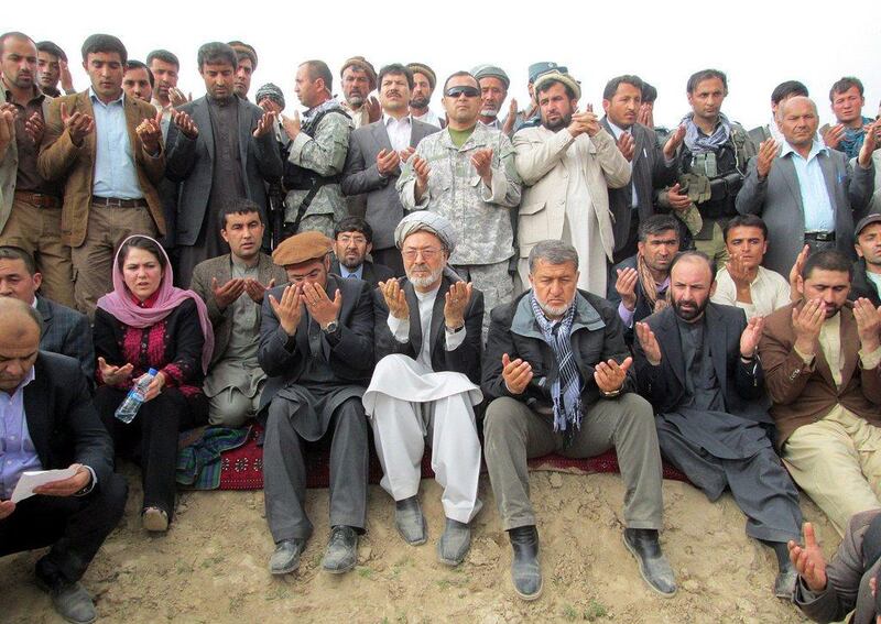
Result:
<instances>
[{"instance_id":1,"label":"camouflage uniform worn by the standing man in sunglasses","mask_svg":"<svg viewBox=\"0 0 881 624\"><path fill-rule=\"evenodd\" d=\"M474 153L486 147L492 149L491 188L471 164ZM420 141L414 156L428 161L428 188L417 204L415 158L411 157L398 178L401 204L405 210L437 212L453 223L458 243L449 264L483 293L486 338L490 310L513 297L508 272L509 259L514 255L511 208L520 204L514 149L500 131L478 123L461 147L456 147L449 132L442 130Z\"/></svg>"}]
</instances>

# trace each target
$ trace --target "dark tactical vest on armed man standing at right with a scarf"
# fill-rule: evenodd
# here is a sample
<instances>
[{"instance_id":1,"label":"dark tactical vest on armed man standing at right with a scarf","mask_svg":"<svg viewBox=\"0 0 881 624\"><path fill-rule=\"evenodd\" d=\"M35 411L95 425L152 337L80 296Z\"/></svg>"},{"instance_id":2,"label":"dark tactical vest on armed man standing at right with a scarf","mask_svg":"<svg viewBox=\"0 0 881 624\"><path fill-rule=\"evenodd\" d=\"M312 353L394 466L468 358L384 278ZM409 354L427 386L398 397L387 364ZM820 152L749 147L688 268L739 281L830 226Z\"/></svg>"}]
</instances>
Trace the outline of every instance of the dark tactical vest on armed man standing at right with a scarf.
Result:
<instances>
[{"instance_id":1,"label":"dark tactical vest on armed man standing at right with a scarf","mask_svg":"<svg viewBox=\"0 0 881 624\"><path fill-rule=\"evenodd\" d=\"M735 198L747 175L747 161L755 153L746 131L731 124L731 135L716 152L693 154L682 147L679 186L697 205L704 219L735 217Z\"/></svg>"}]
</instances>

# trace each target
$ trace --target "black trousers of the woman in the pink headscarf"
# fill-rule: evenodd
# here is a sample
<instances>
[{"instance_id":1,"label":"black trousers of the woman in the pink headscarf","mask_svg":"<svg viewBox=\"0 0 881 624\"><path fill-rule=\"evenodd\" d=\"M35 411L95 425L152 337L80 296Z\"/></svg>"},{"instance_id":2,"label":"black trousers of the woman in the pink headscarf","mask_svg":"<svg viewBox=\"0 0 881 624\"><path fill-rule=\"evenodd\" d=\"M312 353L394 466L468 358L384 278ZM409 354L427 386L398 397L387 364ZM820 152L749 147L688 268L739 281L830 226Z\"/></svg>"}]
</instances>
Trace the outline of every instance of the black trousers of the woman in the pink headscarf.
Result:
<instances>
[{"instance_id":1,"label":"black trousers of the woman in the pink headscarf","mask_svg":"<svg viewBox=\"0 0 881 624\"><path fill-rule=\"evenodd\" d=\"M205 424L208 403L204 395L187 398L174 387L141 406L134 420L122 423L113 416L128 391L102 385L95 393L95 406L113 437L117 453L141 466L143 508L159 507L174 515L174 475L177 464L177 434Z\"/></svg>"}]
</instances>

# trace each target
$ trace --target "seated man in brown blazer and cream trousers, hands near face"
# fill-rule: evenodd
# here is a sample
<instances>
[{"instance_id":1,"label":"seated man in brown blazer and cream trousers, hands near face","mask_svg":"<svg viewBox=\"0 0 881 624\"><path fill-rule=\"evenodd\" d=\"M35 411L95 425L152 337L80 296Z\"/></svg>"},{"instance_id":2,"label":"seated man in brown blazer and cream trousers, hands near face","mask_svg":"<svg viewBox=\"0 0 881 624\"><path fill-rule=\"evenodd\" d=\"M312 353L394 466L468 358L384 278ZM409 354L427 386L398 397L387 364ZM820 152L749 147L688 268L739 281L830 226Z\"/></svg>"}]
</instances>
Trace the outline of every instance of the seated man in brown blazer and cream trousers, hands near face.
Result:
<instances>
[{"instance_id":1,"label":"seated man in brown blazer and cream trousers, hands near face","mask_svg":"<svg viewBox=\"0 0 881 624\"><path fill-rule=\"evenodd\" d=\"M804 298L765 319L759 346L781 456L841 535L881 507L881 309L848 302L851 280L845 254L811 254Z\"/></svg>"}]
</instances>

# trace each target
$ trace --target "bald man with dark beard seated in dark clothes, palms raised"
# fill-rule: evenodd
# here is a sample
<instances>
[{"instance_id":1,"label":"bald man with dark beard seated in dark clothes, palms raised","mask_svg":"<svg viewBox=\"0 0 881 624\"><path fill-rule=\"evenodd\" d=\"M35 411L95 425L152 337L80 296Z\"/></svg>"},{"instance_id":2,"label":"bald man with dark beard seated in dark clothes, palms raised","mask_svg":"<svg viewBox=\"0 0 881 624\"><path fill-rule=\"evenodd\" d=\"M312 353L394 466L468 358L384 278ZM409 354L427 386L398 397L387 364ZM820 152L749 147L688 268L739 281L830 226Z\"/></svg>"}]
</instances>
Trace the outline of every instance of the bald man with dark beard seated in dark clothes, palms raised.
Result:
<instances>
[{"instance_id":1,"label":"bald man with dark beard seated in dark clothes, palms raised","mask_svg":"<svg viewBox=\"0 0 881 624\"><path fill-rule=\"evenodd\" d=\"M786 543L802 526L798 492L774 452L762 362L763 321L710 303L713 269L685 252L670 270L672 305L637 325L640 394L657 412L661 451L710 501L731 489L747 514L747 535L772 547L774 594L792 595Z\"/></svg>"}]
</instances>

